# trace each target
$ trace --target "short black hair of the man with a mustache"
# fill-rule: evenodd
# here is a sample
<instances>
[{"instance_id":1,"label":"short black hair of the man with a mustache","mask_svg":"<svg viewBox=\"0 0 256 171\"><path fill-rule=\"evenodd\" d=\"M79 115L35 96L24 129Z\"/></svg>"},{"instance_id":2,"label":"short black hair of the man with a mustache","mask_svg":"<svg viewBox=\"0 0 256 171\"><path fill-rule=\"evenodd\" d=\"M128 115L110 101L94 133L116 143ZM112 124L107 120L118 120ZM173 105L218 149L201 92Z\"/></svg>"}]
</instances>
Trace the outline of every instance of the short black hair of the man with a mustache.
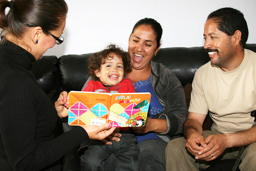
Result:
<instances>
[{"instance_id":1,"label":"short black hair of the man with a mustache","mask_svg":"<svg viewBox=\"0 0 256 171\"><path fill-rule=\"evenodd\" d=\"M209 19L213 19L218 24L218 29L228 36L232 36L236 30L240 30L242 32L240 43L245 48L249 32L244 14L241 11L233 8L221 8L213 11L207 17L207 20Z\"/></svg>"}]
</instances>

